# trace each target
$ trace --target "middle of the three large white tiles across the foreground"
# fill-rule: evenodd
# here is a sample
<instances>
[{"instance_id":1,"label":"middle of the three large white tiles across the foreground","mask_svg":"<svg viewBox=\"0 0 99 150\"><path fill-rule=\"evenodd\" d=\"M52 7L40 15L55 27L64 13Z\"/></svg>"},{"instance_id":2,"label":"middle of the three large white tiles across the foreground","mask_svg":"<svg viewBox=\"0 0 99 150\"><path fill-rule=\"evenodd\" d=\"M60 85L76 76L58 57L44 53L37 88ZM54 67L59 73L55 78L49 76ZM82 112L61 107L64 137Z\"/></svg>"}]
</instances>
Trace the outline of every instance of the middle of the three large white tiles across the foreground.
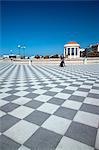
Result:
<instances>
[{"instance_id":1,"label":"middle of the three large white tiles across the foreground","mask_svg":"<svg viewBox=\"0 0 99 150\"><path fill-rule=\"evenodd\" d=\"M71 120L52 115L43 123L42 127L64 135L70 124Z\"/></svg>"}]
</instances>

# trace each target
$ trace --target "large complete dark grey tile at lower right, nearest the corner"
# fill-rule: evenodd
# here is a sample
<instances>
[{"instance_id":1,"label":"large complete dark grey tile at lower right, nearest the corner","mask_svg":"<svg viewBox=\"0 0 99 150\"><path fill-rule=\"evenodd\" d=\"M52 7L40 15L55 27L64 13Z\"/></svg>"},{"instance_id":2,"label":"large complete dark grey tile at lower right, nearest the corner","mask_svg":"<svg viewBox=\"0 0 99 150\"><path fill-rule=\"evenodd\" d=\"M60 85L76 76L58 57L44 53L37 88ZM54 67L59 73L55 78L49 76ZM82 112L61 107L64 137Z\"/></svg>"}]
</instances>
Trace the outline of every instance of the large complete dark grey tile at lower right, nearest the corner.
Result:
<instances>
[{"instance_id":1,"label":"large complete dark grey tile at lower right, nearest the corner","mask_svg":"<svg viewBox=\"0 0 99 150\"><path fill-rule=\"evenodd\" d=\"M72 122L66 131L65 136L94 147L96 134L96 128Z\"/></svg>"}]
</instances>

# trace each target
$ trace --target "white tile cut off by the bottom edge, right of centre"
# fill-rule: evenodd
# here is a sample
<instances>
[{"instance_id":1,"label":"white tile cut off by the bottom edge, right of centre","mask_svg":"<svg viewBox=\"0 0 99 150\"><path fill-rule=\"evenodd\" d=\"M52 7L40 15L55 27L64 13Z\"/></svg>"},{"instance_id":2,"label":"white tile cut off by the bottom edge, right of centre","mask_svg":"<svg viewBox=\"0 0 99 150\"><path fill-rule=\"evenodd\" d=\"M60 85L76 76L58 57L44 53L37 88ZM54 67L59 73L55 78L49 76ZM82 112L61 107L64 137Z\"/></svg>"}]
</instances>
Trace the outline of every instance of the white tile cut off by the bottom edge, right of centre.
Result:
<instances>
[{"instance_id":1,"label":"white tile cut off by the bottom edge, right of centre","mask_svg":"<svg viewBox=\"0 0 99 150\"><path fill-rule=\"evenodd\" d=\"M94 150L94 148L64 136L56 150Z\"/></svg>"}]
</instances>

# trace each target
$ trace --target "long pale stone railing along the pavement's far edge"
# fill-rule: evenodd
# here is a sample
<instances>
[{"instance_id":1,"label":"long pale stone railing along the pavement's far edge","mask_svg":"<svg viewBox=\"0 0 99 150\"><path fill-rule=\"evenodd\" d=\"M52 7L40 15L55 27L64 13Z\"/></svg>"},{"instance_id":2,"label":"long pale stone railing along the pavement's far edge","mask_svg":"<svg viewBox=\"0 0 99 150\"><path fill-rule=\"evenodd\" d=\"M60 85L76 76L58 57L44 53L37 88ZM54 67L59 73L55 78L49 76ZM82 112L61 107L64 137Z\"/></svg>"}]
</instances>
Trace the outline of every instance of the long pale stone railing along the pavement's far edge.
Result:
<instances>
[{"instance_id":1,"label":"long pale stone railing along the pavement's far edge","mask_svg":"<svg viewBox=\"0 0 99 150\"><path fill-rule=\"evenodd\" d=\"M60 58L49 58L49 59L4 59L4 62L13 62L18 64L60 64ZM30 62L31 61L31 62ZM99 63L99 57L94 58L77 58L77 59L64 59L65 64L90 64L90 63Z\"/></svg>"}]
</instances>

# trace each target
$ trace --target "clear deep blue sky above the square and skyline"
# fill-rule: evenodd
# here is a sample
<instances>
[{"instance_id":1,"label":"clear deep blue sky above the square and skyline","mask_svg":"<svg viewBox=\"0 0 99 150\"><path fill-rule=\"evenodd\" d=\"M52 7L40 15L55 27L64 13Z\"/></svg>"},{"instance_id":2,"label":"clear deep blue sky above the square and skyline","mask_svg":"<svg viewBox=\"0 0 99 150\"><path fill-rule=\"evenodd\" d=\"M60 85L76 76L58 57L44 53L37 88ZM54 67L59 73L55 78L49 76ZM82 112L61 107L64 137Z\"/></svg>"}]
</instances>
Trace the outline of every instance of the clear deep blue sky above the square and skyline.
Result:
<instances>
[{"instance_id":1,"label":"clear deep blue sky above the square and skyline","mask_svg":"<svg viewBox=\"0 0 99 150\"><path fill-rule=\"evenodd\" d=\"M98 1L2 1L0 54L26 45L27 55L63 53L63 45L99 42ZM22 52L22 50L21 50Z\"/></svg>"}]
</instances>

